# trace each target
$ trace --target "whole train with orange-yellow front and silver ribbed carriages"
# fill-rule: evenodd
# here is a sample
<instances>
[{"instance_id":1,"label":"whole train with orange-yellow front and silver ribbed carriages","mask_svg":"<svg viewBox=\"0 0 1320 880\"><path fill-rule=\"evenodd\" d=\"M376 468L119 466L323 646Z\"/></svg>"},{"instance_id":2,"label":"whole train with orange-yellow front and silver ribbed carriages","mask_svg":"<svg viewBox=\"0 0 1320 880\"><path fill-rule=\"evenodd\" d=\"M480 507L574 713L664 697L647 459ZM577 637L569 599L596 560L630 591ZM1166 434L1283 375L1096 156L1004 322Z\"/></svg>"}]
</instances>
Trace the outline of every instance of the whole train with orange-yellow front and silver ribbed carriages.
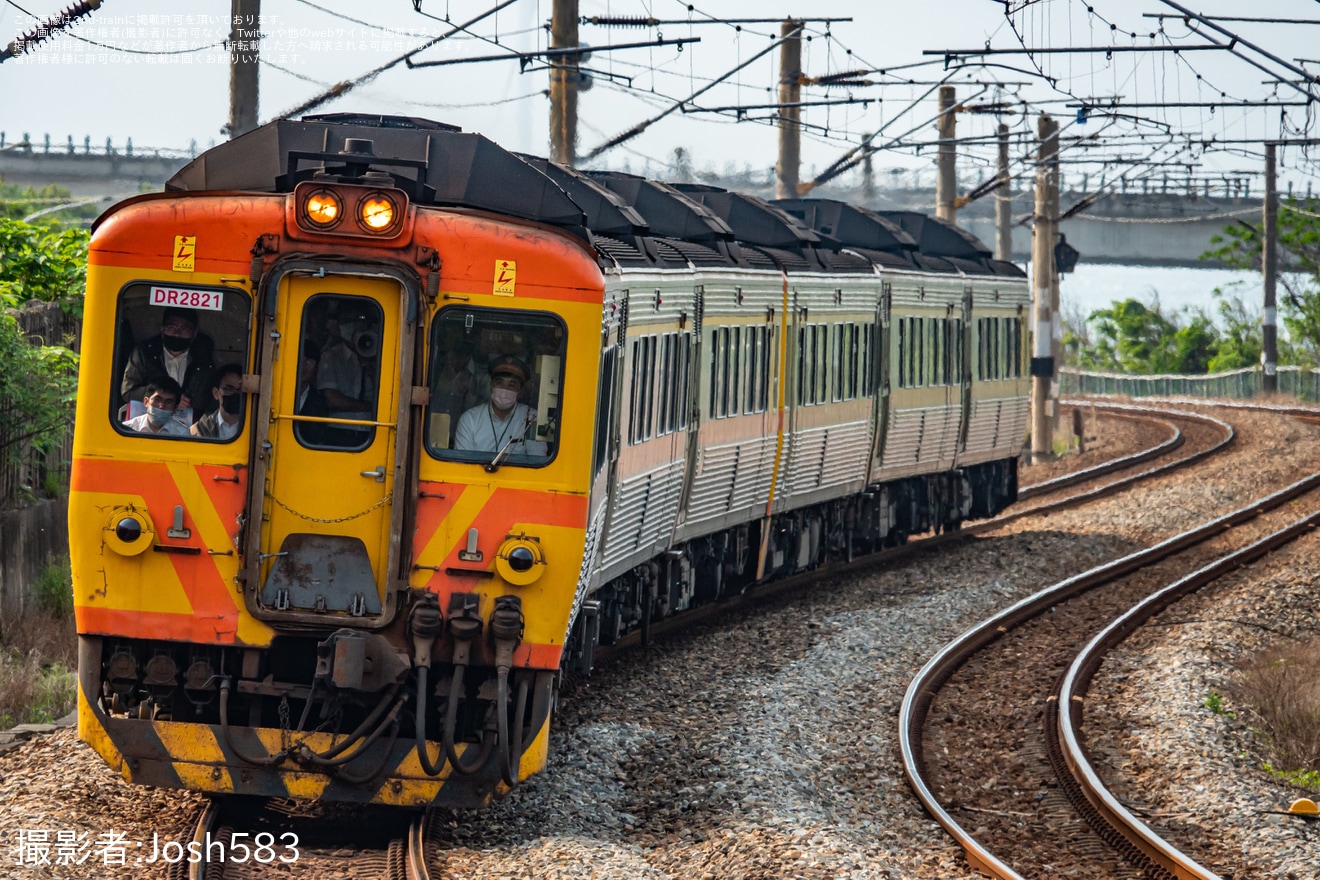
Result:
<instances>
[{"instance_id":1,"label":"whole train with orange-yellow front and silver ribbed carriages","mask_svg":"<svg viewBox=\"0 0 1320 880\"><path fill-rule=\"evenodd\" d=\"M124 780L473 807L601 645L1014 503L1023 273L917 212L277 120L92 231L78 730Z\"/></svg>"}]
</instances>

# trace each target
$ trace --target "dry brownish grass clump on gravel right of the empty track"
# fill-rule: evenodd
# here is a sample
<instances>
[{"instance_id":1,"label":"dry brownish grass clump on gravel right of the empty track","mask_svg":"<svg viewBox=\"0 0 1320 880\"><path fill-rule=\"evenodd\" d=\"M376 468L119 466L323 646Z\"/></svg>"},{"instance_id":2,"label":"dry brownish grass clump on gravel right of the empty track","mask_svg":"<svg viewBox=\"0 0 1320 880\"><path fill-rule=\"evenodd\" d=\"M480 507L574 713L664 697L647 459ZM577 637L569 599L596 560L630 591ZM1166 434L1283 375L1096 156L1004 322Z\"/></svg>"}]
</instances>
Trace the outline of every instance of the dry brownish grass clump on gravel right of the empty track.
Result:
<instances>
[{"instance_id":1,"label":"dry brownish grass clump on gravel right of the empty track","mask_svg":"<svg viewBox=\"0 0 1320 880\"><path fill-rule=\"evenodd\" d=\"M1270 748L1266 770L1320 790L1320 640L1257 657L1242 669L1236 690Z\"/></svg>"}]
</instances>

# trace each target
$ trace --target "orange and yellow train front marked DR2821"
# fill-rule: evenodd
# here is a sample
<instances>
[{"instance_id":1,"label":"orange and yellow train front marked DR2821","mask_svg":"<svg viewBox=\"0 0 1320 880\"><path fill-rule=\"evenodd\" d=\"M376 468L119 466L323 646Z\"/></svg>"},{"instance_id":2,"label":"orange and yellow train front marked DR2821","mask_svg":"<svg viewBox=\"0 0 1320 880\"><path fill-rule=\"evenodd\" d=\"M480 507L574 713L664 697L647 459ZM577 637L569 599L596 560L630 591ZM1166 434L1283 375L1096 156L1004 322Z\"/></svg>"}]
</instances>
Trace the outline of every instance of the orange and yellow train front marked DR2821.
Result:
<instances>
[{"instance_id":1,"label":"orange and yellow train front marked DR2821","mask_svg":"<svg viewBox=\"0 0 1320 880\"><path fill-rule=\"evenodd\" d=\"M603 281L379 181L140 197L92 236L79 732L132 782L478 805L545 764Z\"/></svg>"}]
</instances>

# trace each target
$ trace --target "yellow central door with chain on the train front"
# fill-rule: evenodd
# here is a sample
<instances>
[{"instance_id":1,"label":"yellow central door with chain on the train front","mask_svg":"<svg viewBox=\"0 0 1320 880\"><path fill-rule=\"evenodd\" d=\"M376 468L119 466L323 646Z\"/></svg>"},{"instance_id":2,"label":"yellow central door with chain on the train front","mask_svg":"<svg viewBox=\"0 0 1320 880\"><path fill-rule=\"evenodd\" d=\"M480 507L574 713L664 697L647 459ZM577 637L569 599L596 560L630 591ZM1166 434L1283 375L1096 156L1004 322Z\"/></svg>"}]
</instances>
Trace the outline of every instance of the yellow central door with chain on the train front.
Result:
<instances>
[{"instance_id":1,"label":"yellow central door with chain on the train front","mask_svg":"<svg viewBox=\"0 0 1320 880\"><path fill-rule=\"evenodd\" d=\"M408 437L399 389L411 385L400 376L411 373L413 348L400 334L403 293L380 277L280 282L261 364L260 548L247 559L261 616L370 624L392 613Z\"/></svg>"}]
</instances>

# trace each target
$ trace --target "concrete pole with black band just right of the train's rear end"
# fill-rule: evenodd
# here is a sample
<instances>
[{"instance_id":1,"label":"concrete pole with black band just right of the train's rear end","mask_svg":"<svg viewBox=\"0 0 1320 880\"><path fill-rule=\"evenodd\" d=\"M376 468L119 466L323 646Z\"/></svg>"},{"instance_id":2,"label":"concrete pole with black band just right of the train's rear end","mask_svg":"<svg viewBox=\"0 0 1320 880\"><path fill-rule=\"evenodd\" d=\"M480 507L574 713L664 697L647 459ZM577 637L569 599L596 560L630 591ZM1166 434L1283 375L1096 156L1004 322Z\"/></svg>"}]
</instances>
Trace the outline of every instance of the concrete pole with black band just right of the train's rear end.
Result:
<instances>
[{"instance_id":1,"label":"concrete pole with black band just right of the train's rear end","mask_svg":"<svg viewBox=\"0 0 1320 880\"><path fill-rule=\"evenodd\" d=\"M1059 216L1059 123L1041 115L1036 128L1040 146L1036 160L1036 216L1031 241L1031 282L1035 321L1031 330L1031 459L1044 462L1053 454L1051 385L1055 379L1055 239Z\"/></svg>"}]
</instances>

